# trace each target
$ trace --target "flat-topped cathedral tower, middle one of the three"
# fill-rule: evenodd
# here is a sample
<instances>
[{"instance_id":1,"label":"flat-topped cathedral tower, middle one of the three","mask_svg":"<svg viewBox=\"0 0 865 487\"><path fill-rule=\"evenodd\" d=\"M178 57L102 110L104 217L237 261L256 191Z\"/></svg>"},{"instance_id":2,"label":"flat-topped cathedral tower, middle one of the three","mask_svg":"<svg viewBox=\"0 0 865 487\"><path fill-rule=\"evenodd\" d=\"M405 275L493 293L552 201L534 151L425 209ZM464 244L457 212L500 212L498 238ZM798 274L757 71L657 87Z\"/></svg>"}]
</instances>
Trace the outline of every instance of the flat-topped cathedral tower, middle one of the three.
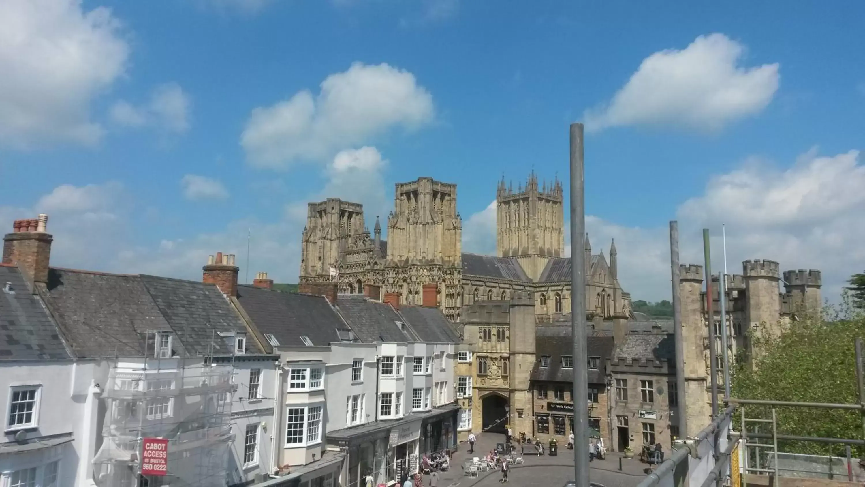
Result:
<instances>
[{"instance_id":1,"label":"flat-topped cathedral tower, middle one of the three","mask_svg":"<svg viewBox=\"0 0 865 487\"><path fill-rule=\"evenodd\" d=\"M397 183L388 216L388 262L459 266L462 234L456 184L432 177Z\"/></svg>"}]
</instances>

